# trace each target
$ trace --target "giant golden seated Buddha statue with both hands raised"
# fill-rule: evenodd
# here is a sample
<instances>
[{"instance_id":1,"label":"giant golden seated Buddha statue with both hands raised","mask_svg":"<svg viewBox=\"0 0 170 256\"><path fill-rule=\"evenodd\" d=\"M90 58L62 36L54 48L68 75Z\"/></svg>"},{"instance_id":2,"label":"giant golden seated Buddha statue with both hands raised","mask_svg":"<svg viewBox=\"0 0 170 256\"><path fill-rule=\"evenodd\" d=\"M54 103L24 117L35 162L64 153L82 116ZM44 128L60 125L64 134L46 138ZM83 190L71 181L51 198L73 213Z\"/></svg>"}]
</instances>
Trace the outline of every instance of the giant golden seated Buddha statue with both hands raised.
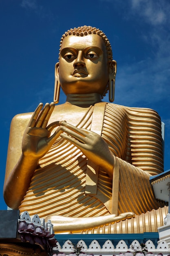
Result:
<instances>
[{"instance_id":1,"label":"giant golden seated Buddha statue with both hands raised","mask_svg":"<svg viewBox=\"0 0 170 256\"><path fill-rule=\"evenodd\" d=\"M114 100L116 67L102 31L67 31L54 103L11 122L4 199L51 219L55 233L143 233L163 225L167 207L149 182L163 172L161 121L151 109L102 102L107 91ZM55 105L60 87L66 103Z\"/></svg>"}]
</instances>

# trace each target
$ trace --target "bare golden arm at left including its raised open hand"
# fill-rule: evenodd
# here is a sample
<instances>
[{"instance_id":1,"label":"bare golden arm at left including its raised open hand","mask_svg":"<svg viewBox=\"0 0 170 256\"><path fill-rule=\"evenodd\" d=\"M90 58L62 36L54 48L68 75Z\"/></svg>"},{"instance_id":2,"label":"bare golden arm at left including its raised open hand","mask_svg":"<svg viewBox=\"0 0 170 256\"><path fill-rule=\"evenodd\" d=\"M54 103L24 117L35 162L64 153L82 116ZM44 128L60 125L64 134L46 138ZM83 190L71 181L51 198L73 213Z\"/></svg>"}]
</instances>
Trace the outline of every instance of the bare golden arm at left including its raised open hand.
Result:
<instances>
[{"instance_id":1,"label":"bare golden arm at left including its raised open hand","mask_svg":"<svg viewBox=\"0 0 170 256\"><path fill-rule=\"evenodd\" d=\"M61 133L59 129L50 137L51 130L60 125L60 122L46 126L53 112L54 103L46 104L42 112L41 109L42 103L33 113L25 132L23 131L28 117L24 118L24 115L14 117L11 124L4 182L4 200L13 209L18 209L26 194L39 159L48 152ZM22 151L20 149L21 144ZM18 158L19 160L16 162Z\"/></svg>"}]
</instances>

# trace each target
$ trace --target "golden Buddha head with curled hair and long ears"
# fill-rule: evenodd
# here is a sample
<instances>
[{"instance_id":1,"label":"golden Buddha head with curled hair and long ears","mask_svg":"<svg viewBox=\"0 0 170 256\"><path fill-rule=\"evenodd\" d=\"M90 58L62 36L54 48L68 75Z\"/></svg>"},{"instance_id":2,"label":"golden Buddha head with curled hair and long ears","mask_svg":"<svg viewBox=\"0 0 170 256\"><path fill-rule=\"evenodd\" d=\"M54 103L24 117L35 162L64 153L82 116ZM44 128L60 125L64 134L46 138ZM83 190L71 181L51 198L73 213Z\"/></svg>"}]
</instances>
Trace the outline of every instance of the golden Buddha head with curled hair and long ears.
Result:
<instances>
[{"instance_id":1,"label":"golden Buddha head with curled hair and long ears","mask_svg":"<svg viewBox=\"0 0 170 256\"><path fill-rule=\"evenodd\" d=\"M83 26L68 30L61 38L59 62L55 65L55 94L60 85L66 95L98 93L114 100L116 61L108 38L99 29Z\"/></svg>"}]
</instances>

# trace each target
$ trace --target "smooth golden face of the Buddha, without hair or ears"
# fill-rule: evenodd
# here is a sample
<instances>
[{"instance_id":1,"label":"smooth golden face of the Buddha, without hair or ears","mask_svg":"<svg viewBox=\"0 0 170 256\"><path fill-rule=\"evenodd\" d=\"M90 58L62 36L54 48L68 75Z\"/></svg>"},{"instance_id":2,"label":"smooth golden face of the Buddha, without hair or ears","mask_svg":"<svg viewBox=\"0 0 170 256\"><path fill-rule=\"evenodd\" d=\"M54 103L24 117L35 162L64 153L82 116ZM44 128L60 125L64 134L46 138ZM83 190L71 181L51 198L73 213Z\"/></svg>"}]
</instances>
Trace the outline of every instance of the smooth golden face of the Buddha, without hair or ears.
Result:
<instances>
[{"instance_id":1,"label":"smooth golden face of the Buddha, without hair or ears","mask_svg":"<svg viewBox=\"0 0 170 256\"><path fill-rule=\"evenodd\" d=\"M62 90L67 94L103 95L109 78L106 46L100 36L66 36L59 62Z\"/></svg>"}]
</instances>

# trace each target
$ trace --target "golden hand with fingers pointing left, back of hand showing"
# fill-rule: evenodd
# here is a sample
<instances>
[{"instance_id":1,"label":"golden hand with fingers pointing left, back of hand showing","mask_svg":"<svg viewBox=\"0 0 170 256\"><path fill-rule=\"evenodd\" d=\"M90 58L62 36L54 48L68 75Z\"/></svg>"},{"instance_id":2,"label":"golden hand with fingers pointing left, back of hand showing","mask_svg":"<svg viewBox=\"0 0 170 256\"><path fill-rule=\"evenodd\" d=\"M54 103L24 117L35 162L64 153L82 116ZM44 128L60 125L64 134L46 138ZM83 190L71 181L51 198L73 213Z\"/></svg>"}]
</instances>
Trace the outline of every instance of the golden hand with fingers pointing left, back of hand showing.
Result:
<instances>
[{"instance_id":1,"label":"golden hand with fingers pointing left, back of hand showing","mask_svg":"<svg viewBox=\"0 0 170 256\"><path fill-rule=\"evenodd\" d=\"M61 123L61 130L64 132L60 134L63 139L77 146L91 162L106 170L108 175L113 177L114 156L100 135L90 130L77 128L65 121Z\"/></svg>"}]
</instances>

